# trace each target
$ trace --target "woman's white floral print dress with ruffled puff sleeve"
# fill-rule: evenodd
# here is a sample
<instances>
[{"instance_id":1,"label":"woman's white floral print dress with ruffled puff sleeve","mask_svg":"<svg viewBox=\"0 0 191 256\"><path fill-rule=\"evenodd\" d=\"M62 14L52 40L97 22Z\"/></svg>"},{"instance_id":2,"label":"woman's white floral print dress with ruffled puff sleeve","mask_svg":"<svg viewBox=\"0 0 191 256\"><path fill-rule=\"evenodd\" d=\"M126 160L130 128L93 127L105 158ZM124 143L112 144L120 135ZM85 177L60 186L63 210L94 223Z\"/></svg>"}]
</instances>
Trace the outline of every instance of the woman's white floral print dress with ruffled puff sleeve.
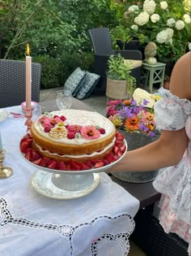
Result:
<instances>
[{"instance_id":1,"label":"woman's white floral print dress with ruffled puff sleeve","mask_svg":"<svg viewBox=\"0 0 191 256\"><path fill-rule=\"evenodd\" d=\"M175 232L189 243L191 255L191 102L159 89L163 99L155 103L156 127L179 130L185 127L189 144L180 163L162 171L153 182L162 193L159 222L165 232Z\"/></svg>"}]
</instances>

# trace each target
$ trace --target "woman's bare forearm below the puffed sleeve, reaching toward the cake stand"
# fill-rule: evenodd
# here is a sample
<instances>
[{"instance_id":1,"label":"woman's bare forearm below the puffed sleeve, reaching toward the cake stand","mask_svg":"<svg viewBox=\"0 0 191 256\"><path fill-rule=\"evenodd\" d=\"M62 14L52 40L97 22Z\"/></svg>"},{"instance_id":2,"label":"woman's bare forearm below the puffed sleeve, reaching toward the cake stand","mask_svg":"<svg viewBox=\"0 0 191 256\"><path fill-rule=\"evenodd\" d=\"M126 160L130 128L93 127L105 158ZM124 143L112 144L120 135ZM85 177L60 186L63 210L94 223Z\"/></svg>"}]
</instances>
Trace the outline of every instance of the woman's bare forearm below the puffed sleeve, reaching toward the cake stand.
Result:
<instances>
[{"instance_id":1,"label":"woman's bare forearm below the puffed sleeve, reaching toward the cake stand","mask_svg":"<svg viewBox=\"0 0 191 256\"><path fill-rule=\"evenodd\" d=\"M185 128L163 131L158 141L138 150L128 151L117 165L108 171L152 171L180 162L188 144Z\"/></svg>"}]
</instances>

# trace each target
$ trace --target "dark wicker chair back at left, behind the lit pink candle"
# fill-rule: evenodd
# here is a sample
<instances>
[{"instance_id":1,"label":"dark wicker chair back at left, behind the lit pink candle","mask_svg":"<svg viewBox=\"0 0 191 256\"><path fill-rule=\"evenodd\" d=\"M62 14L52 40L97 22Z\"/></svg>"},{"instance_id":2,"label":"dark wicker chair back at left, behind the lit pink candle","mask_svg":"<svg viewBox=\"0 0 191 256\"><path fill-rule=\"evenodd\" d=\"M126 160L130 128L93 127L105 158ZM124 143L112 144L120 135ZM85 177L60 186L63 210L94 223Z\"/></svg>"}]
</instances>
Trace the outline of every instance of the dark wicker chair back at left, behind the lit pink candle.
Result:
<instances>
[{"instance_id":1,"label":"dark wicker chair back at left, behind the lit pink candle","mask_svg":"<svg viewBox=\"0 0 191 256\"><path fill-rule=\"evenodd\" d=\"M0 59L0 107L25 102L26 66L24 61ZM40 99L40 63L32 63L32 101Z\"/></svg>"}]
</instances>

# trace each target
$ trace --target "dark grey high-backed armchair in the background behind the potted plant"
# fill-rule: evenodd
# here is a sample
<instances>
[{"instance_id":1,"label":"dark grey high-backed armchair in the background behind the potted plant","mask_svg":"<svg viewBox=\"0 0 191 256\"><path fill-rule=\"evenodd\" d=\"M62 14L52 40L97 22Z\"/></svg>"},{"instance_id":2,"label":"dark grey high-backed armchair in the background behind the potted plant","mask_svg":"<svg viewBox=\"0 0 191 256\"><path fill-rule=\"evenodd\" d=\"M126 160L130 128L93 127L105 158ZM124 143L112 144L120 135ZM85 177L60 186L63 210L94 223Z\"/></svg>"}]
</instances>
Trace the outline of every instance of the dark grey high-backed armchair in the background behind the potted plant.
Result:
<instances>
[{"instance_id":1,"label":"dark grey high-backed armchair in the background behind the potted plant","mask_svg":"<svg viewBox=\"0 0 191 256\"><path fill-rule=\"evenodd\" d=\"M88 33L94 49L94 72L100 75L100 81L96 85L94 93L105 94L109 56L120 53L124 59L142 60L142 53L139 50L112 50L112 40L108 28L91 28ZM141 67L132 69L131 76L136 78L138 86L141 79Z\"/></svg>"}]
</instances>

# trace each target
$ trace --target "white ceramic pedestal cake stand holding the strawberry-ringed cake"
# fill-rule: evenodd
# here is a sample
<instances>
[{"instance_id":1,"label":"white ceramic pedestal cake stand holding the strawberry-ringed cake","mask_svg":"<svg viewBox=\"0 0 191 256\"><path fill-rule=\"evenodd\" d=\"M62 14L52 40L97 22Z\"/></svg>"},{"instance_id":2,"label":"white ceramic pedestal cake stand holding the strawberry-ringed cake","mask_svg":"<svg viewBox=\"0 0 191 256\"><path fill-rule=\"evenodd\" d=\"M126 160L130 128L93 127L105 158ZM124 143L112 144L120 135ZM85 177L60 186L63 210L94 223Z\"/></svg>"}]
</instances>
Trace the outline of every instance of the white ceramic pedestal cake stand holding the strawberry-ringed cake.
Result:
<instances>
[{"instance_id":1,"label":"white ceramic pedestal cake stand holding the strawberry-ringed cake","mask_svg":"<svg viewBox=\"0 0 191 256\"><path fill-rule=\"evenodd\" d=\"M124 140L124 144L127 143ZM32 187L36 192L44 195L45 197L55 199L71 199L83 197L91 193L100 183L99 172L106 171L124 157L125 152L117 161L108 164L104 167L91 168L90 170L83 171L59 171L49 169L47 167L40 167L26 159L21 153L22 157L32 166L38 169L32 176Z\"/></svg>"}]
</instances>

